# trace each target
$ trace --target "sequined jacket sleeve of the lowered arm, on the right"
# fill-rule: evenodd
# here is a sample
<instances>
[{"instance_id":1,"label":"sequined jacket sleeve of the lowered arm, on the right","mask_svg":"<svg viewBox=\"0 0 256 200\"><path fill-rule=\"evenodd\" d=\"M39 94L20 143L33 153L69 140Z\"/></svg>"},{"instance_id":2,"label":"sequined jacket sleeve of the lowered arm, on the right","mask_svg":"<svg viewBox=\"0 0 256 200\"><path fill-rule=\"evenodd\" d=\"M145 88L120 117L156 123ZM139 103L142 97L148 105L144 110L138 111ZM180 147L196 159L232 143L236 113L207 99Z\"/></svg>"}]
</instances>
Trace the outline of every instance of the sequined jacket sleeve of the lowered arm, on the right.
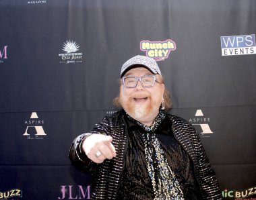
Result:
<instances>
[{"instance_id":1,"label":"sequined jacket sleeve of the lowered arm, on the right","mask_svg":"<svg viewBox=\"0 0 256 200\"><path fill-rule=\"evenodd\" d=\"M195 154L197 155L198 166L195 166L197 170L197 180L201 188L201 194L203 199L223 199L220 192L220 187L216 174L211 167L210 161L205 154L205 150L201 144L199 135L197 134L193 126L190 127L190 132L193 133L192 141Z\"/></svg>"}]
</instances>

